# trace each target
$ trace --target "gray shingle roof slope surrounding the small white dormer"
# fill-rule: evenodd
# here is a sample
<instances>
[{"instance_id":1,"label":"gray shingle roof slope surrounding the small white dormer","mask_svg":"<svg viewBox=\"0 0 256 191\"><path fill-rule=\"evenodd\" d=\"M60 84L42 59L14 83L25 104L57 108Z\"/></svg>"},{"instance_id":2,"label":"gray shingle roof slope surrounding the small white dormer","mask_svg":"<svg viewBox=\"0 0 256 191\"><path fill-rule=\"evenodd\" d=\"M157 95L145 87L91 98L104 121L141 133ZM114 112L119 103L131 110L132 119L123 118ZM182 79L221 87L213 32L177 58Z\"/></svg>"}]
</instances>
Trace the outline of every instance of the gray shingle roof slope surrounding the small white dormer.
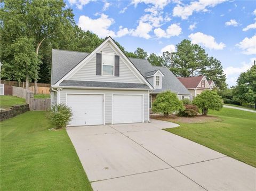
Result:
<instances>
[{"instance_id":1,"label":"gray shingle roof slope surrounding the small white dormer","mask_svg":"<svg viewBox=\"0 0 256 191\"><path fill-rule=\"evenodd\" d=\"M149 76L150 71L160 70L164 77L162 77L162 89L154 89L153 93L159 93L165 90L176 92L179 94L190 94L185 86L174 76L174 74L166 67L156 67L151 65L148 60L129 58L135 67L142 73L144 77ZM147 79L147 78L146 78ZM150 83L150 82L149 82ZM151 83L152 86L154 86Z\"/></svg>"}]
</instances>

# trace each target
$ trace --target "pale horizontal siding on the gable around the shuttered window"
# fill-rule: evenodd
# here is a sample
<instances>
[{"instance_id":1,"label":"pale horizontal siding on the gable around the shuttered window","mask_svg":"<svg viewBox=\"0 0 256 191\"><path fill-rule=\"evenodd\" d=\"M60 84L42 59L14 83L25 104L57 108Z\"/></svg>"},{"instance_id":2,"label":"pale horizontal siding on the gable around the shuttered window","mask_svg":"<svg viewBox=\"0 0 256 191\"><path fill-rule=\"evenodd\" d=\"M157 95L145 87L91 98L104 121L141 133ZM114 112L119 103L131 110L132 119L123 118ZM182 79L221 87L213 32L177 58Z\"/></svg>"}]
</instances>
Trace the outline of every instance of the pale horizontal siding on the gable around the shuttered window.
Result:
<instances>
[{"instance_id":1,"label":"pale horizontal siding on the gable around the shuttered window","mask_svg":"<svg viewBox=\"0 0 256 191\"><path fill-rule=\"evenodd\" d=\"M113 53L115 51L107 45L102 49L102 52ZM101 51L99 52L101 53ZM127 63L128 64L128 63ZM96 55L84 65L74 76L68 78L68 80L81 80L81 81L106 81L106 82L125 82L125 83L144 83L131 71L129 67L124 63L122 56L119 60L119 77L117 76L97 76L96 75Z\"/></svg>"}]
</instances>

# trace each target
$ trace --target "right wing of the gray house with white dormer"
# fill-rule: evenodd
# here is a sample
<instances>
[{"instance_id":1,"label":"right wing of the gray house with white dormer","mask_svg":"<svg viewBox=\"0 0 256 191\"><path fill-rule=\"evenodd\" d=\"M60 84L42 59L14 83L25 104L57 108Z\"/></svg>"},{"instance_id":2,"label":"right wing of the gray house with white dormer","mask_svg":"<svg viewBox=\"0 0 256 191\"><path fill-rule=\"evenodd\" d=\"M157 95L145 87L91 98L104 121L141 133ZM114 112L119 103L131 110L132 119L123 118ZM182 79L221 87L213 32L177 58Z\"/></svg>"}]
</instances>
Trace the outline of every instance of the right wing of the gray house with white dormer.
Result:
<instances>
[{"instance_id":1,"label":"right wing of the gray house with white dormer","mask_svg":"<svg viewBox=\"0 0 256 191\"><path fill-rule=\"evenodd\" d=\"M140 73L147 79L154 90L150 92L149 107L154 102L157 94L170 90L177 94L179 99L190 98L190 93L185 86L174 76L166 67L156 67L151 65L148 60L129 58Z\"/></svg>"}]
</instances>

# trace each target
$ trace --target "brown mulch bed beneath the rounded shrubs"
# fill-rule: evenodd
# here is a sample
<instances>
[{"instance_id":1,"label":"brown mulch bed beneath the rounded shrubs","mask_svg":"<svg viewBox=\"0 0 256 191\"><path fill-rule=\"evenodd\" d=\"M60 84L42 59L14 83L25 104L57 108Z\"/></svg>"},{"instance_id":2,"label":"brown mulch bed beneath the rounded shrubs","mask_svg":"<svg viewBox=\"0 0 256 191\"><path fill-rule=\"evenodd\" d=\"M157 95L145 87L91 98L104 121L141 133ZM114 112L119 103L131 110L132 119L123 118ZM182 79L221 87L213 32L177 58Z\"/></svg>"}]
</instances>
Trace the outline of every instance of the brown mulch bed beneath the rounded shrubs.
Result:
<instances>
[{"instance_id":1,"label":"brown mulch bed beneath the rounded shrubs","mask_svg":"<svg viewBox=\"0 0 256 191\"><path fill-rule=\"evenodd\" d=\"M188 117L177 117L176 115L169 115L167 118L165 118L163 115L150 115L150 118L152 119L158 119L163 121L171 121L171 122L177 122L177 123L209 123L209 122L218 122L222 121L218 117L213 116L204 116L204 115L197 115L194 118L188 118Z\"/></svg>"}]
</instances>

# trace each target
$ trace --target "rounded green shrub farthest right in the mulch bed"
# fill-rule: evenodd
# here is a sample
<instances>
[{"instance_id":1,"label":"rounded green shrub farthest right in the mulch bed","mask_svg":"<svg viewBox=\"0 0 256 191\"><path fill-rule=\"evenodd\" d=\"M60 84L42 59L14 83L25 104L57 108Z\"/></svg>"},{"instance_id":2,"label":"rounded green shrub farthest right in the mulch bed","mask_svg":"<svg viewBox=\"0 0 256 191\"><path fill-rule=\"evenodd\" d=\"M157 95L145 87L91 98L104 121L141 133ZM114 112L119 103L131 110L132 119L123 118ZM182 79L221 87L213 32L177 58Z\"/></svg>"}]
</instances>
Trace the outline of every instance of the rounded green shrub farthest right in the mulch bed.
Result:
<instances>
[{"instance_id":1,"label":"rounded green shrub farthest right in the mulch bed","mask_svg":"<svg viewBox=\"0 0 256 191\"><path fill-rule=\"evenodd\" d=\"M208 109L220 111L223 106L222 102L223 101L217 92L204 90L204 92L194 98L193 105L196 105L202 110L202 115L207 115Z\"/></svg>"}]
</instances>

